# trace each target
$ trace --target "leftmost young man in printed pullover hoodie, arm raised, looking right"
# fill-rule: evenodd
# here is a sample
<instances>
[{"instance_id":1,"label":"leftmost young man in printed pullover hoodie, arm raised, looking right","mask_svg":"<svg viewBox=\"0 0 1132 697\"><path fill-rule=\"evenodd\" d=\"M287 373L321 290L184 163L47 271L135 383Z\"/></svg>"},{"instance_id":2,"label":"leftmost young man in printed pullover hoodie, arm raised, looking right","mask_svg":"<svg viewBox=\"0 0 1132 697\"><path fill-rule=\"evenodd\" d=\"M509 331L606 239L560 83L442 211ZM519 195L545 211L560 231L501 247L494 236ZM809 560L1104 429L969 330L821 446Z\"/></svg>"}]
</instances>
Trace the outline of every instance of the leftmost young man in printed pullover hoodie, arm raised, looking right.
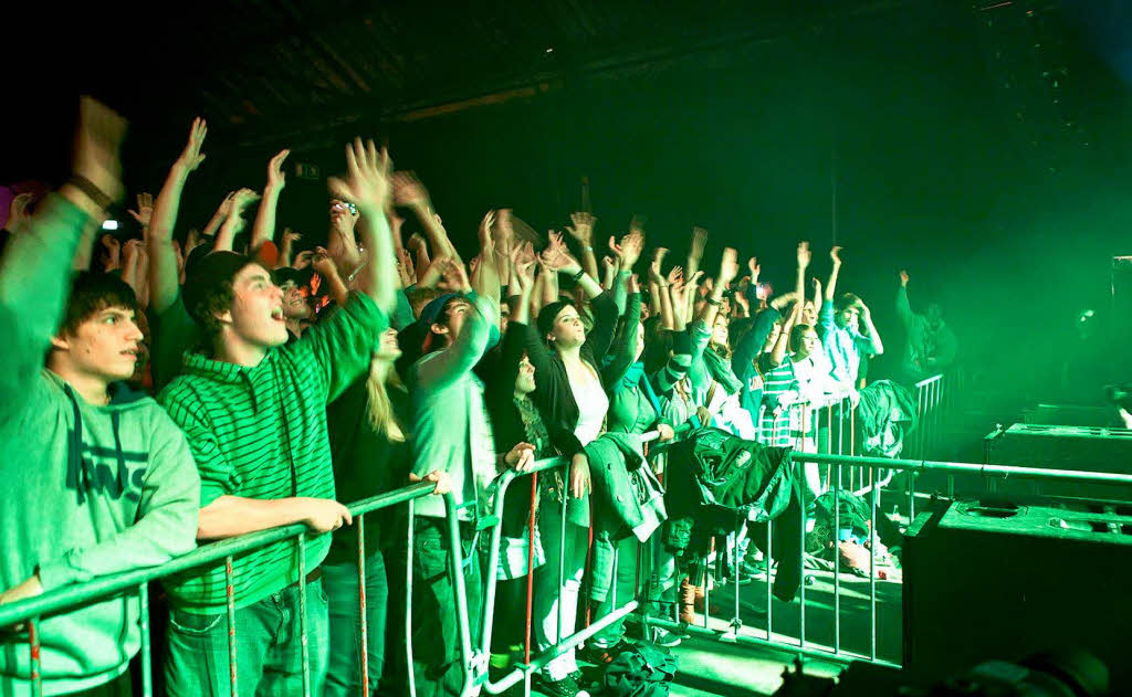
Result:
<instances>
[{"instance_id":1,"label":"leftmost young man in printed pullover hoodie, arm raised, looking right","mask_svg":"<svg viewBox=\"0 0 1132 697\"><path fill-rule=\"evenodd\" d=\"M123 132L84 100L71 180L0 258L0 447L11 455L0 458L0 603L195 547L200 482L185 434L125 386L142 341L134 292L89 272L71 283L76 251L121 193ZM138 612L131 593L44 619L43 694L128 695ZM0 638L0 695L31 694L26 638Z\"/></svg>"}]
</instances>

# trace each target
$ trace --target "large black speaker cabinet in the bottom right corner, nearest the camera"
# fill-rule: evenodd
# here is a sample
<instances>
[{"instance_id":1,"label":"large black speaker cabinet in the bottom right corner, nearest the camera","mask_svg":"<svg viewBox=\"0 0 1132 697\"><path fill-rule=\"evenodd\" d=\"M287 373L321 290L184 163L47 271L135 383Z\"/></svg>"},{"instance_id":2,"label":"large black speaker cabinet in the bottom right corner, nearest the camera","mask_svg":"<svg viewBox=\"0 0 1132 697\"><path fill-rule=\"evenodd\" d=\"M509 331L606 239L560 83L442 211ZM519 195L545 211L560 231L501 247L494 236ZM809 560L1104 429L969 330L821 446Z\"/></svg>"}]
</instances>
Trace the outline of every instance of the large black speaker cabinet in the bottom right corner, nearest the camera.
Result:
<instances>
[{"instance_id":1,"label":"large black speaker cabinet in the bottom right corner, nearest the camera","mask_svg":"<svg viewBox=\"0 0 1132 697\"><path fill-rule=\"evenodd\" d=\"M903 573L911 674L1084 648L1132 694L1132 505L954 502L909 527Z\"/></svg>"}]
</instances>

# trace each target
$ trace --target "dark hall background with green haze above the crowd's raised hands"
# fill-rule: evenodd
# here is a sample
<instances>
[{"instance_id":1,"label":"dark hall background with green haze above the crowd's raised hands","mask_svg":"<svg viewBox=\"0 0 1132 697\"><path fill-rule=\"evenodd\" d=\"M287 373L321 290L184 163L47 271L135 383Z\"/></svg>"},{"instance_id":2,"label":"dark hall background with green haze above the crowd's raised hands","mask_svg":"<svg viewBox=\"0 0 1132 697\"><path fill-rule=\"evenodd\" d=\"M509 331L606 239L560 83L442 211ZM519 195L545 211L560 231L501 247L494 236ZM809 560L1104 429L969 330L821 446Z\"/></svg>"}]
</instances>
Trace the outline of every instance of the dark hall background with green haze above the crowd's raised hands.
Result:
<instances>
[{"instance_id":1,"label":"dark hall background with green haze above the crowd's raised hands","mask_svg":"<svg viewBox=\"0 0 1132 697\"><path fill-rule=\"evenodd\" d=\"M709 269L736 246L780 290L801 239L824 281L835 235L839 290L874 308L890 363L907 268L914 307L944 304L983 385L1052 398L1066 361L1127 379L1126 344L1075 338L1082 310L1118 319L1112 257L1132 253L1125 3L693 5L25 9L0 181L58 180L89 91L131 121L131 192L156 193L191 118L208 119L182 229L260 189L291 147L321 179L289 175L280 223L312 243L342 144L372 136L462 248L490 207L560 227L588 177L599 235L642 214L649 244L683 257L702 225Z\"/></svg>"}]
</instances>

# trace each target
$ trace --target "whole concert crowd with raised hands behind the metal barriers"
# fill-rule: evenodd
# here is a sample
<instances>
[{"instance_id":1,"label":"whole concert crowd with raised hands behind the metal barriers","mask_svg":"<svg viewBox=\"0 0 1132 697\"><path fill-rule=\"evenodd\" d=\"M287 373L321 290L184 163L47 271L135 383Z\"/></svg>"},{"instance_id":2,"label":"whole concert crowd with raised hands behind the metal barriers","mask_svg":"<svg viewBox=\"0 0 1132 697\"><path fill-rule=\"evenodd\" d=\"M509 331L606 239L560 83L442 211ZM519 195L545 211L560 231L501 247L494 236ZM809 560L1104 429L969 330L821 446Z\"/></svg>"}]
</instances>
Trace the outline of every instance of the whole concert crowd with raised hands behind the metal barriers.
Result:
<instances>
[{"instance_id":1,"label":"whole concert crowd with raised hands behind the metal barriers","mask_svg":"<svg viewBox=\"0 0 1132 697\"><path fill-rule=\"evenodd\" d=\"M608 559L591 526L625 526L624 511L611 510L620 497L609 488L621 483L607 458L641 451L650 431L670 441L687 423L789 446L805 430L794 422L803 414L856 405L863 365L884 351L869 307L838 287L837 247L824 285L811 286L813 253L799 242L796 284L773 295L758 260L744 269L734 248L702 268L702 229L671 266L667 249L645 257L636 222L608 239L607 252L590 213L537 239L495 209L465 260L426 187L368 140L346 146L345 173L328 181L325 247L303 249L276 223L288 150L268 163L260 193L234 191L204 227L186 230L181 196L206 136L198 119L156 197L139 195L130 210L142 235L120 241L102 223L125 197L125 122L83 100L70 179L40 200L16 197L0 257L11 351L0 368L0 433L12 447L0 465L0 603L161 565L212 541L309 528L306 636L289 541L233 559L231 588L223 566L162 580L169 695L230 694L230 595L241 694L301 694L306 643L315 694L359 695L362 680L393 692L411 671L418 694L456 695L463 669L444 498L417 500L412 519L404 508L366 518L366 677L358 532L345 504L420 481L451 492L473 628L487 571L477 522L501 515L496 629L484 648L491 668L506 670L523 660L529 556L535 649L573 634L580 616L612 612L614 596L625 600L608 586L619 588L629 563L606 569L616 576L607 592L586 590ZM403 240L402 215L422 232ZM955 341L938 307L912 312L907 285L901 273L901 370L917 380L954 360ZM569 464L540 476L534 501L516 487L503 511L491 510L501 472L552 456ZM661 488L652 475L663 466L663 456L643 465ZM821 477L807 476L807 487L816 496ZM637 534L599 542L635 552L636 540L659 539L663 516L645 508L634 508ZM406 526L412 568L398 569ZM692 611L686 571L661 547L654 566L668 583L651 600ZM561 577L547 562L559 559ZM398 665L406 611L413 664ZM44 694L129 694L138 612L119 597L42 622ZM31 694L25 642L0 637L0 694ZM610 623L582 656L571 649L551 661L539 689L582 694L580 659L608 662L626 642L624 622Z\"/></svg>"}]
</instances>

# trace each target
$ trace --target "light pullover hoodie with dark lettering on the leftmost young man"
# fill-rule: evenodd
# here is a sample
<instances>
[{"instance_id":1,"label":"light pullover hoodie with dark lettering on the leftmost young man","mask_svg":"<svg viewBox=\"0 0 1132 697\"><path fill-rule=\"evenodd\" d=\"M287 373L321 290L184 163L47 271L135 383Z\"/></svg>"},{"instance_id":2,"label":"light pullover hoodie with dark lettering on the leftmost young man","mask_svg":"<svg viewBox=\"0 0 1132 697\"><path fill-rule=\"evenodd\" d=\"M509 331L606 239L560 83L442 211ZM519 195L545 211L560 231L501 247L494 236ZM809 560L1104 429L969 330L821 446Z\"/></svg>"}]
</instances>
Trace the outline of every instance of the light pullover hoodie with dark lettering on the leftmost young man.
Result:
<instances>
[{"instance_id":1,"label":"light pullover hoodie with dark lettering on the leftmost young man","mask_svg":"<svg viewBox=\"0 0 1132 697\"><path fill-rule=\"evenodd\" d=\"M38 573L44 592L155 566L196 544L200 482L157 403L113 389L88 404L42 368L86 217L48 200L0 259L0 588ZM136 594L45 619L43 694L88 689L140 646ZM0 696L29 695L25 640L0 640Z\"/></svg>"}]
</instances>

